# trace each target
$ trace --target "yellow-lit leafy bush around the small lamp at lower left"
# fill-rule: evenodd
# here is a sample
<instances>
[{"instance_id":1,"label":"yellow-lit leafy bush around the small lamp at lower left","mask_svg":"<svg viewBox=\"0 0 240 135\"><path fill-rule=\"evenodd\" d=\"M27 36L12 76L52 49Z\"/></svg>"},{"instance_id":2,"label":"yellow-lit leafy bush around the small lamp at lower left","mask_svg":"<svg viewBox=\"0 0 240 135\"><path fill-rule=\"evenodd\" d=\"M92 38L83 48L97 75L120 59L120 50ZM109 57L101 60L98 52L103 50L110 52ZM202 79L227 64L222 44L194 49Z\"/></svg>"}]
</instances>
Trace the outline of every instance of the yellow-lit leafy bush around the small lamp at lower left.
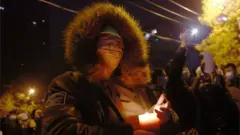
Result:
<instances>
[{"instance_id":1,"label":"yellow-lit leafy bush around the small lamp at lower left","mask_svg":"<svg viewBox=\"0 0 240 135\"><path fill-rule=\"evenodd\" d=\"M20 92L6 92L0 100L0 135L33 135L41 125L42 102Z\"/></svg>"}]
</instances>

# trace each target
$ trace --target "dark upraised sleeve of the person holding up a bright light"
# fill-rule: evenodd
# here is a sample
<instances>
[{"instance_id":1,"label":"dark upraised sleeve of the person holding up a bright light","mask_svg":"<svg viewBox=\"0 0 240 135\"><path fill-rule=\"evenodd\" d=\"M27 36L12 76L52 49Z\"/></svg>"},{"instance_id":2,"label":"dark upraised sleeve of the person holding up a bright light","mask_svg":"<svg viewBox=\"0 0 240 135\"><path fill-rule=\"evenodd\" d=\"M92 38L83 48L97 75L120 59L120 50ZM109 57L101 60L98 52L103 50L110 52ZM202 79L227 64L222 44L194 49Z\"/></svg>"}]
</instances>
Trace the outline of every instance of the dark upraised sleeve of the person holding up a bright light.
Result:
<instances>
[{"instance_id":1,"label":"dark upraised sleeve of the person holding up a bright light","mask_svg":"<svg viewBox=\"0 0 240 135\"><path fill-rule=\"evenodd\" d=\"M177 52L175 57L173 58L170 68L168 71L168 77L169 77L169 82L176 82L176 81L181 81L181 76L182 76L182 70L184 63L186 61L186 53L187 49L180 47Z\"/></svg>"}]
</instances>

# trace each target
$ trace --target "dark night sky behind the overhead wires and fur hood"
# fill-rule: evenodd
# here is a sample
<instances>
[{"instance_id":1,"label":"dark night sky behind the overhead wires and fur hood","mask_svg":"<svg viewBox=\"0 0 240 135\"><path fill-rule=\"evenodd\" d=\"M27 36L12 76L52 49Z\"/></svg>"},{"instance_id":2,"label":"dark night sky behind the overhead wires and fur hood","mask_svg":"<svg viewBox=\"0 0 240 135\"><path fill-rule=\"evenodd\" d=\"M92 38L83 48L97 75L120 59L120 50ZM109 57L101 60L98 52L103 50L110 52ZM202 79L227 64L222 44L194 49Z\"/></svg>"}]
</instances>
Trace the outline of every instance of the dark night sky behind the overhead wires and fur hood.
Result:
<instances>
[{"instance_id":1,"label":"dark night sky behind the overhead wires and fur hood","mask_svg":"<svg viewBox=\"0 0 240 135\"><path fill-rule=\"evenodd\" d=\"M103 0L50 0L73 10ZM194 20L189 22L166 11L158 9L144 0L131 0L155 12L181 21L176 24L148 13L128 3L128 0L112 0L114 4L126 7L137 19L144 31L157 29L158 35L178 39L184 29L198 25L197 16L171 4L168 0L151 0L161 6L178 12ZM201 12L201 0L175 0L182 5ZM35 0L2 0L1 6L1 91L8 84L37 85L46 89L56 75L71 68L64 63L63 31L75 14L63 11ZM150 39L151 64L155 68L164 67L178 48L175 42ZM198 54L190 51L188 63L195 68ZM24 86L25 87L25 86Z\"/></svg>"}]
</instances>

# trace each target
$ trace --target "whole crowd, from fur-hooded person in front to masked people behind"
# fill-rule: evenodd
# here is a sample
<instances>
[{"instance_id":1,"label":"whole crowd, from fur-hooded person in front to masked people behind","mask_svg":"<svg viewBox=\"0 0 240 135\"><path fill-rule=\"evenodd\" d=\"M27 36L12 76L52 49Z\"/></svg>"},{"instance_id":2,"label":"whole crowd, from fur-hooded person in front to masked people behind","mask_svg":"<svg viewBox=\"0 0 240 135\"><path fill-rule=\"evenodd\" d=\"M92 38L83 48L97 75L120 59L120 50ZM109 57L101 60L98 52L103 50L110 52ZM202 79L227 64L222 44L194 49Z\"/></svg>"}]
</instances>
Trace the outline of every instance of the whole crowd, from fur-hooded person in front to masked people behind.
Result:
<instances>
[{"instance_id":1,"label":"whole crowd, from fur-hooded person in front to masked people behind","mask_svg":"<svg viewBox=\"0 0 240 135\"><path fill-rule=\"evenodd\" d=\"M191 73L186 33L166 68L151 71L148 43L122 7L83 9L65 36L74 71L49 85L38 134L239 135L237 67L207 71L203 60Z\"/></svg>"}]
</instances>

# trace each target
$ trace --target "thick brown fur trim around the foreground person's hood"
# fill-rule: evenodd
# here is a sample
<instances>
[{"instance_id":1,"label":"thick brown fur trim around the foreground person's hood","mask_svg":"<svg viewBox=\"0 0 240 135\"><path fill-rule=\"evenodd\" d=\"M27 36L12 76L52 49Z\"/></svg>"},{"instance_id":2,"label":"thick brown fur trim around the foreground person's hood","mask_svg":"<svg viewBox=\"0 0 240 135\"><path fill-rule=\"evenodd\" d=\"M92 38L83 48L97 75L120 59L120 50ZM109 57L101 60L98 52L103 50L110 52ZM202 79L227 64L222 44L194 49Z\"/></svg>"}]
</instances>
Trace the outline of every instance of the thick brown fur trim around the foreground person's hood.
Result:
<instances>
[{"instance_id":1,"label":"thick brown fur trim around the foreground person's hood","mask_svg":"<svg viewBox=\"0 0 240 135\"><path fill-rule=\"evenodd\" d=\"M97 38L105 25L115 27L124 42L121 63L145 65L148 44L140 26L123 7L97 3L80 11L65 32L65 58L77 70L94 67L97 56Z\"/></svg>"}]
</instances>

